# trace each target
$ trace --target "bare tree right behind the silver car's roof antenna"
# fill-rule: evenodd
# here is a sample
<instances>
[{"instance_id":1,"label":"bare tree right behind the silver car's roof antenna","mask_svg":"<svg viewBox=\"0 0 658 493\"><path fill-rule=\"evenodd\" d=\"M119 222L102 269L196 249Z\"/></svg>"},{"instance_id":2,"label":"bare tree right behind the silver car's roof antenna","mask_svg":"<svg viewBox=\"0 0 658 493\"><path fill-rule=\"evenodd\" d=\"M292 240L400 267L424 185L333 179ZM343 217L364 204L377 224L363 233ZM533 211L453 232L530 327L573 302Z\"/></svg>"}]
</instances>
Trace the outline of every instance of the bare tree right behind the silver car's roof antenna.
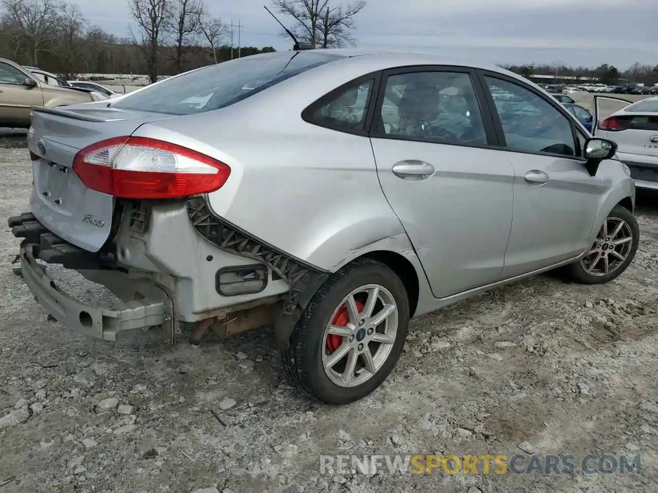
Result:
<instances>
[{"instance_id":1,"label":"bare tree right behind the silver car's roof antenna","mask_svg":"<svg viewBox=\"0 0 658 493\"><path fill-rule=\"evenodd\" d=\"M295 20L291 31L298 41L322 48L354 45L350 33L355 28L354 17L366 5L364 0L347 7L332 5L332 0L273 0L273 4Z\"/></svg>"}]
</instances>

